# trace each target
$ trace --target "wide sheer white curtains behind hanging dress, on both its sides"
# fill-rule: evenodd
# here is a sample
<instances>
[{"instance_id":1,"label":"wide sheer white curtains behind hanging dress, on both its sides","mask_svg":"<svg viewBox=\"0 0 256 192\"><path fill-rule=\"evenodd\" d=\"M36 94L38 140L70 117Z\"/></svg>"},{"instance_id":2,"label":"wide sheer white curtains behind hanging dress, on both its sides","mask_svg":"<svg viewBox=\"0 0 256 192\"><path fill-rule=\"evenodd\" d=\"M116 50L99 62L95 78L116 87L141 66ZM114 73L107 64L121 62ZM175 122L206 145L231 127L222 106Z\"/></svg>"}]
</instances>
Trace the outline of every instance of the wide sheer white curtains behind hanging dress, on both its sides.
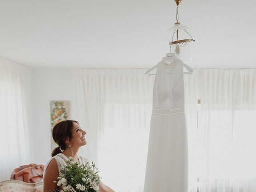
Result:
<instances>
[{"instance_id":1,"label":"wide sheer white curtains behind hanging dress, on both its sides","mask_svg":"<svg viewBox=\"0 0 256 192\"><path fill-rule=\"evenodd\" d=\"M144 72L75 70L84 155L116 191L143 192L154 81ZM255 192L256 69L195 69L185 82L190 192Z\"/></svg>"}]
</instances>

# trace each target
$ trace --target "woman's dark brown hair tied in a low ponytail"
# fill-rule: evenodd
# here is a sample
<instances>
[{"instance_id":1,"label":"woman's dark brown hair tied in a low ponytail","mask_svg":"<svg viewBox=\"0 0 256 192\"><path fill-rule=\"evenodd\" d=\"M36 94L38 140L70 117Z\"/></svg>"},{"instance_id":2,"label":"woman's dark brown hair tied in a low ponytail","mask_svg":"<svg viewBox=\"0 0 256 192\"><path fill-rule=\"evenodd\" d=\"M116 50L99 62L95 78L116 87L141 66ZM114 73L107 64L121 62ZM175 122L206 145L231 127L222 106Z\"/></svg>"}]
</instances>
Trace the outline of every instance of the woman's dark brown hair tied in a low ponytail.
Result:
<instances>
[{"instance_id":1,"label":"woman's dark brown hair tied in a low ponytail","mask_svg":"<svg viewBox=\"0 0 256 192\"><path fill-rule=\"evenodd\" d=\"M72 139L73 122L76 122L79 125L77 121L65 120L57 123L52 128L52 138L54 142L58 145L58 147L56 147L52 151L52 157L56 156L56 154L61 153L67 148L68 145L66 145L65 141L67 139Z\"/></svg>"}]
</instances>

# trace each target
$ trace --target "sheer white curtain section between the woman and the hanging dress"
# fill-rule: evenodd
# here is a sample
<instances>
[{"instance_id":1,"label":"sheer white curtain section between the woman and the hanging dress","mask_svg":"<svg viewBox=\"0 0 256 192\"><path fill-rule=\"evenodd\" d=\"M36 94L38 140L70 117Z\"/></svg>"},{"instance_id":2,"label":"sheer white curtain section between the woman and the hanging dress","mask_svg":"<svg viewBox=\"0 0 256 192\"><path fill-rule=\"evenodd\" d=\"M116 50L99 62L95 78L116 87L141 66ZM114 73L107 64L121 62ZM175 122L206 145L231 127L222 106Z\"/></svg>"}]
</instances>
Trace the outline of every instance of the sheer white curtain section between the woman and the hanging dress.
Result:
<instances>
[{"instance_id":1,"label":"sheer white curtain section between the woman and the hanging dress","mask_svg":"<svg viewBox=\"0 0 256 192\"><path fill-rule=\"evenodd\" d=\"M142 192L154 78L144 69L75 70L77 117L87 131L83 155L116 191Z\"/></svg>"}]
</instances>

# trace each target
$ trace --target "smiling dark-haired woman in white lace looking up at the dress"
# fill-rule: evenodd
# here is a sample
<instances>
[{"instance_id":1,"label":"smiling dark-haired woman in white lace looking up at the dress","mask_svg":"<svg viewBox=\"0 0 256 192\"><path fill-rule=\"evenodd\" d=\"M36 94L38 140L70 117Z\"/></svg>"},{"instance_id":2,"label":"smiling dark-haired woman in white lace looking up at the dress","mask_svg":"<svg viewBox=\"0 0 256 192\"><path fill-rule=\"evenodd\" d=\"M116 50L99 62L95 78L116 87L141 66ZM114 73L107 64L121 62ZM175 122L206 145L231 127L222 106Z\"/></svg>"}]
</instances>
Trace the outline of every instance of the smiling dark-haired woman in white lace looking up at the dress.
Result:
<instances>
[{"instance_id":1,"label":"smiling dark-haired woman in white lace looking up at the dress","mask_svg":"<svg viewBox=\"0 0 256 192\"><path fill-rule=\"evenodd\" d=\"M86 164L89 162L87 158L78 156L78 150L81 146L86 145L86 132L82 130L79 123L74 120L65 120L57 123L52 129L52 138L59 147L52 151L52 158L44 167L44 192L62 190L62 186L58 187L54 181L60 176L60 171L66 166L65 160L70 156L78 164ZM114 192L110 187L99 182L100 192Z\"/></svg>"}]
</instances>

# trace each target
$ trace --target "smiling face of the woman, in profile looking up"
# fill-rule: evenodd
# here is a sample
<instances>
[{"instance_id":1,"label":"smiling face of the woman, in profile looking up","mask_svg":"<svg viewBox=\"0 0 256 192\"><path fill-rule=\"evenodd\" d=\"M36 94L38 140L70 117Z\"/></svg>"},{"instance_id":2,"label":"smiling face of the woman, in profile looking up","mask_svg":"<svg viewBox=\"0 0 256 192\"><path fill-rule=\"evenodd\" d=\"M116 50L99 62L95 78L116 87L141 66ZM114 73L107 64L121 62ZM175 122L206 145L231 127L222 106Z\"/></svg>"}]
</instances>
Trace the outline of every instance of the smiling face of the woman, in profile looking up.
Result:
<instances>
[{"instance_id":1,"label":"smiling face of the woman, in profile looking up","mask_svg":"<svg viewBox=\"0 0 256 192\"><path fill-rule=\"evenodd\" d=\"M72 130L72 139L71 144L74 147L80 147L87 144L87 141L85 139L86 132L82 130L80 125L78 125L76 122L73 122L73 130Z\"/></svg>"}]
</instances>

